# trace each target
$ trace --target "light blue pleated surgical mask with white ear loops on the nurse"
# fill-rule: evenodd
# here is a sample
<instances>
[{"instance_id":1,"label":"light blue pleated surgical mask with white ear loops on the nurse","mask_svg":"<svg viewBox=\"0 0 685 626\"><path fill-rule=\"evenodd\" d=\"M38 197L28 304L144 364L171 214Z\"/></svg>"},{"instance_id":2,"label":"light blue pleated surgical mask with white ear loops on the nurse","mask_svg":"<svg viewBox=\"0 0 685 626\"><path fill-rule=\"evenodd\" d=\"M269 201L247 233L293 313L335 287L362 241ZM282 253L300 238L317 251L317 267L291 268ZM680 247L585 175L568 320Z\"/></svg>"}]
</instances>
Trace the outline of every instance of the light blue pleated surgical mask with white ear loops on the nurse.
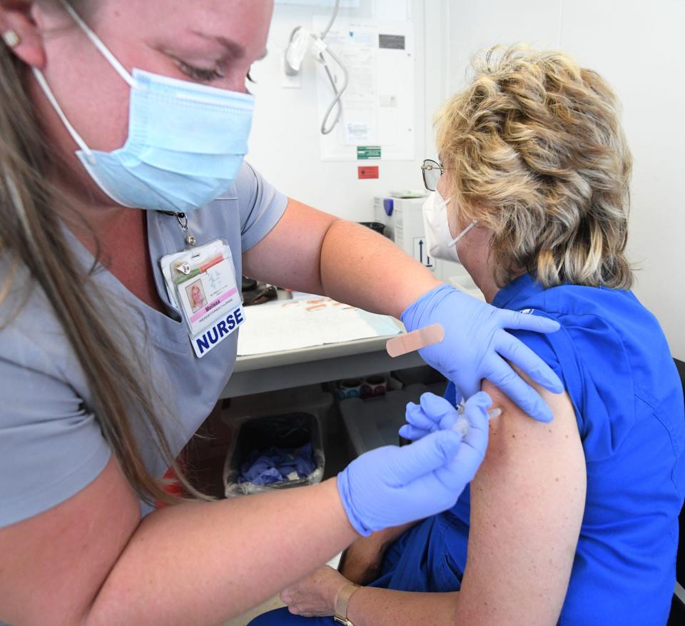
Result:
<instances>
[{"instance_id":1,"label":"light blue pleated surgical mask with white ear loops on the nurse","mask_svg":"<svg viewBox=\"0 0 685 626\"><path fill-rule=\"evenodd\" d=\"M131 208L189 213L226 193L248 151L254 97L119 63L73 8L64 8L131 86L128 139L91 150L71 126L42 72L34 75L80 148L76 156L107 196Z\"/></svg>"}]
</instances>

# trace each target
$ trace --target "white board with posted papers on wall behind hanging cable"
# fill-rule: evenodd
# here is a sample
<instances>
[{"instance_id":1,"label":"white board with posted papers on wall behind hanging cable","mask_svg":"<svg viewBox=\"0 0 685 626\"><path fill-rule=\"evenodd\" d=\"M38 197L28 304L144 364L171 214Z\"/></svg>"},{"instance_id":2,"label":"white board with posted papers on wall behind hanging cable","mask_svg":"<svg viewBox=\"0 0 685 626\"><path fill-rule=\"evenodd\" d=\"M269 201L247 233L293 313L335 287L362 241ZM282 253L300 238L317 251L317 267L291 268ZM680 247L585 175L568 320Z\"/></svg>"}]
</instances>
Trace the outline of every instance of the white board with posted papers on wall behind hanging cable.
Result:
<instances>
[{"instance_id":1,"label":"white board with posted papers on wall behind hanging cable","mask_svg":"<svg viewBox=\"0 0 685 626\"><path fill-rule=\"evenodd\" d=\"M326 24L315 16L313 28ZM338 18L326 44L349 73L342 115L333 132L320 135L323 161L356 161L357 146L380 146L382 158L415 158L414 25L411 21L345 21ZM329 62L336 84L342 71ZM333 99L323 66L317 71L318 123ZM333 113L335 116L335 112Z\"/></svg>"}]
</instances>

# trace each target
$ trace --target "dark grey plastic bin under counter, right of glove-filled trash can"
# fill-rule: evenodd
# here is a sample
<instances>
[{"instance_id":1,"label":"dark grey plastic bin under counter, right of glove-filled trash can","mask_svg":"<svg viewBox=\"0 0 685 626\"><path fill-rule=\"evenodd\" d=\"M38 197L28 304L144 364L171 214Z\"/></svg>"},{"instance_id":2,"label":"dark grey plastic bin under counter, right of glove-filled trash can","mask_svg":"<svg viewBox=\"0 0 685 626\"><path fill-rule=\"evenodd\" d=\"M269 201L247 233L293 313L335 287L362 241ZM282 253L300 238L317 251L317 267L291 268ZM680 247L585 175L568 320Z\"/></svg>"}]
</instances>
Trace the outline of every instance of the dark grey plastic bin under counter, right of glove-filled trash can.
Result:
<instances>
[{"instance_id":1,"label":"dark grey plastic bin under counter, right of glove-filled trash can","mask_svg":"<svg viewBox=\"0 0 685 626\"><path fill-rule=\"evenodd\" d=\"M408 385L404 389L389 391L380 398L342 400L340 412L352 450L360 455L382 445L399 445L397 430L405 424L407 403L418 402L422 393L427 391L441 393L435 386Z\"/></svg>"}]
</instances>

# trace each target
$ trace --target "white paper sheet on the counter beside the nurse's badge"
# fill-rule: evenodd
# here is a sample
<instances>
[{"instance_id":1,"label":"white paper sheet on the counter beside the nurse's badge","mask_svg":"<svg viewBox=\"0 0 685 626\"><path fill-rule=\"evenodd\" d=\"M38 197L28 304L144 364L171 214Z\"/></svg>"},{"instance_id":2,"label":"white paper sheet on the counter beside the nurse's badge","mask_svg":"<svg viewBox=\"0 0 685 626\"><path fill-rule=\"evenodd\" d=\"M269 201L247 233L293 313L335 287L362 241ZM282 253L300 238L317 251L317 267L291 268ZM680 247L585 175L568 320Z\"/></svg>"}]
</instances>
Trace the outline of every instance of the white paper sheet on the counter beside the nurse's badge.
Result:
<instances>
[{"instance_id":1,"label":"white paper sheet on the counter beside the nurse's badge","mask_svg":"<svg viewBox=\"0 0 685 626\"><path fill-rule=\"evenodd\" d=\"M238 355L299 350L315 345L397 335L387 315L375 315L329 298L278 301L245 308Z\"/></svg>"}]
</instances>

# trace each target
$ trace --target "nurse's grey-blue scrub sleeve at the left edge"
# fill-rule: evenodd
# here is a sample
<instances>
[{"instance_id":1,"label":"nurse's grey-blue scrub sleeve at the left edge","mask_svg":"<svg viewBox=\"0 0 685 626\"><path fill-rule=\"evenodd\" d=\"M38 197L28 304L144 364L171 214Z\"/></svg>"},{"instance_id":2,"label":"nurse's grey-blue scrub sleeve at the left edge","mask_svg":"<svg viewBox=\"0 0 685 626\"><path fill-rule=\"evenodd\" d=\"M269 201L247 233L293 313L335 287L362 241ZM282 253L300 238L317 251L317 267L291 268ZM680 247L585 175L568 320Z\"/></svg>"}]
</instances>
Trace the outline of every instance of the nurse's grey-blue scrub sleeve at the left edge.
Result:
<instances>
[{"instance_id":1,"label":"nurse's grey-blue scrub sleeve at the left edge","mask_svg":"<svg viewBox=\"0 0 685 626\"><path fill-rule=\"evenodd\" d=\"M0 358L0 527L71 498L111 456L73 388L39 369L39 349L24 343L21 355L22 363Z\"/></svg>"}]
</instances>

